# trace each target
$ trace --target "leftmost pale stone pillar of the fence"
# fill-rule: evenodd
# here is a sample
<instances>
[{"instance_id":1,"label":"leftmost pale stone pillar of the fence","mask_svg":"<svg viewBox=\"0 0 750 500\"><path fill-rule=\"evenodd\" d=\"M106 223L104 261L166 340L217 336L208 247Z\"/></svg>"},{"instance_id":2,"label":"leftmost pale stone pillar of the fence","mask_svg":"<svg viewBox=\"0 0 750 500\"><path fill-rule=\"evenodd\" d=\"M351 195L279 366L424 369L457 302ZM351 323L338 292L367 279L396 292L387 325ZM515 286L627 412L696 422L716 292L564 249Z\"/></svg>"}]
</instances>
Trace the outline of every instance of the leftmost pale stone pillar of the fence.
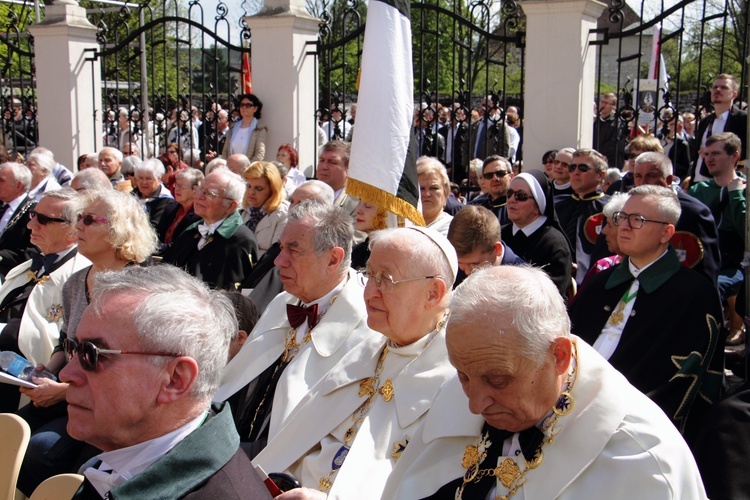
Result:
<instances>
[{"instance_id":1,"label":"leftmost pale stone pillar of the fence","mask_svg":"<svg viewBox=\"0 0 750 500\"><path fill-rule=\"evenodd\" d=\"M63 0L48 5L44 21L29 31L35 48L39 144L75 169L78 156L102 147L100 65L87 62L91 53L85 52L99 49L96 27L77 2Z\"/></svg>"}]
</instances>

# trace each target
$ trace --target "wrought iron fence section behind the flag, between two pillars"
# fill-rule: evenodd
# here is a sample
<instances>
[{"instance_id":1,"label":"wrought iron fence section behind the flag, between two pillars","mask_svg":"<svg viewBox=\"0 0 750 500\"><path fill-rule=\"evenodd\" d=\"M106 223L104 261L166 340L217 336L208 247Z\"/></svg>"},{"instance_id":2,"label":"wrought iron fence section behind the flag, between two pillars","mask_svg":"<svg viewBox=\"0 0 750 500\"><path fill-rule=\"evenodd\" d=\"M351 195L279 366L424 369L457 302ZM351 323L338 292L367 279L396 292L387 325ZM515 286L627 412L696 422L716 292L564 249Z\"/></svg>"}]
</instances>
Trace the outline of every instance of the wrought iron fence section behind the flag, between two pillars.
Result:
<instances>
[{"instance_id":1,"label":"wrought iron fence section behind the flag, between two pillars","mask_svg":"<svg viewBox=\"0 0 750 500\"><path fill-rule=\"evenodd\" d=\"M318 124L328 139L349 139L347 111L357 99L366 7L360 0L324 0L315 55L319 64ZM504 127L510 106L523 113L524 19L517 2L419 0L411 4L414 126L420 153L439 157L452 180L467 176L475 132L483 120ZM339 118L332 113L342 110ZM383 110L387 113L388 110ZM515 115L514 115L515 119ZM356 133L356 124L351 129ZM505 141L501 134L501 141ZM488 148L489 146L486 146ZM500 148L508 153L508 144ZM519 151L520 153L520 151ZM520 159L520 154L519 158Z\"/></svg>"}]
</instances>

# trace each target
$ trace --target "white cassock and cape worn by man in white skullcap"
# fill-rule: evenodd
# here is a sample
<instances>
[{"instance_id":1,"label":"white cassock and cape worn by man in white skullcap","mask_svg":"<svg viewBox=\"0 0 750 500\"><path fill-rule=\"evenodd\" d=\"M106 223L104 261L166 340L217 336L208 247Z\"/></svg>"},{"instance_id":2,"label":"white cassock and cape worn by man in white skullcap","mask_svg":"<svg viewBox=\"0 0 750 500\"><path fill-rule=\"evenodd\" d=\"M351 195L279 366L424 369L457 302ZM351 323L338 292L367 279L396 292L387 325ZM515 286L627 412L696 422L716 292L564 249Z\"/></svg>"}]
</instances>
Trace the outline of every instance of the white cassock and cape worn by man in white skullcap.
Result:
<instances>
[{"instance_id":1,"label":"white cassock and cape worn by man in white skullcap","mask_svg":"<svg viewBox=\"0 0 750 500\"><path fill-rule=\"evenodd\" d=\"M287 471L302 486L320 489L331 464L340 455L344 435L366 395L360 383L373 377L386 345L369 339L350 352L300 402L278 434L255 458L267 472ZM382 488L397 457L419 423L428 415L442 383L455 370L448 362L445 331L423 337L410 346L388 346L379 387L390 379L390 401L375 394L338 471L328 498L381 498Z\"/></svg>"}]
</instances>

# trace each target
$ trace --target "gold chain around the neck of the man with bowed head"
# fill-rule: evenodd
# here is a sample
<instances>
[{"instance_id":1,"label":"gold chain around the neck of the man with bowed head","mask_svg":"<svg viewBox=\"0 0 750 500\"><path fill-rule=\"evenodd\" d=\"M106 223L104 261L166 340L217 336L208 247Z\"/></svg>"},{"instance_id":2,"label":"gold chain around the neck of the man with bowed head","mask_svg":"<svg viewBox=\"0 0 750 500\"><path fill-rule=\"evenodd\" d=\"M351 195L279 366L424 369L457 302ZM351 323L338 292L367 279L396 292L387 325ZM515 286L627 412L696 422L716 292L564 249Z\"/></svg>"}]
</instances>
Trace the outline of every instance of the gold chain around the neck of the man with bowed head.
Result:
<instances>
[{"instance_id":1,"label":"gold chain around the neck of the man with bowed head","mask_svg":"<svg viewBox=\"0 0 750 500\"><path fill-rule=\"evenodd\" d=\"M463 484L456 490L456 499L461 500L464 492L464 487L467 483L475 482L478 483L485 477L496 477L500 483L508 488L506 495L498 495L496 499L508 500L510 497L516 494L518 488L524 485L526 482L526 473L532 469L536 469L542 464L544 460L544 453L542 449L545 444L552 444L557 436L558 430L555 429L557 420L560 417L564 417L569 414L573 409L573 396L570 391L573 390L573 385L576 381L576 370L578 366L578 353L576 351L575 344L573 344L572 350L573 357L573 369L568 373L566 380L566 387L562 394L557 398L555 406L552 407L552 415L547 417L542 423L542 432L544 433L544 440L539 448L534 453L534 457L531 460L526 460L526 468L521 471L518 464L512 458L505 458L502 463L492 469L480 469L481 464L487 457L487 449L492 446L492 442L489 441L489 434L485 433L479 437L476 445L469 445L464 451L461 465L466 469L464 474ZM502 446L503 443L497 443L497 446Z\"/></svg>"}]
</instances>

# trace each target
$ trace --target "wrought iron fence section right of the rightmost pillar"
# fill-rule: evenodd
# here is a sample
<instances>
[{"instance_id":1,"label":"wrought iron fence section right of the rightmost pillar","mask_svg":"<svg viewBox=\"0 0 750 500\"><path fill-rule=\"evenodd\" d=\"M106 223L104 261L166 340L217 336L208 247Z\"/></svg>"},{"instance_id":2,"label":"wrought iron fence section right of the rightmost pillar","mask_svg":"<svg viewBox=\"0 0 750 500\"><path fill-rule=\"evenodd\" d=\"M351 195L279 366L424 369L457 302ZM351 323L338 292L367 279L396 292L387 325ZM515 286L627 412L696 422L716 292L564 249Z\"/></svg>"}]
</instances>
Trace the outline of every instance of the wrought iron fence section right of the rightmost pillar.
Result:
<instances>
[{"instance_id":1,"label":"wrought iron fence section right of the rightmost pillar","mask_svg":"<svg viewBox=\"0 0 750 500\"><path fill-rule=\"evenodd\" d=\"M597 126L608 113L602 102L617 98L608 118L617 131L611 166L623 164L624 146L637 135L653 134L666 143L676 128L692 135L713 109L710 90L719 74L737 78L736 104L747 100L746 0L607 3L590 44L599 46ZM594 148L607 149L604 141L595 127Z\"/></svg>"}]
</instances>

